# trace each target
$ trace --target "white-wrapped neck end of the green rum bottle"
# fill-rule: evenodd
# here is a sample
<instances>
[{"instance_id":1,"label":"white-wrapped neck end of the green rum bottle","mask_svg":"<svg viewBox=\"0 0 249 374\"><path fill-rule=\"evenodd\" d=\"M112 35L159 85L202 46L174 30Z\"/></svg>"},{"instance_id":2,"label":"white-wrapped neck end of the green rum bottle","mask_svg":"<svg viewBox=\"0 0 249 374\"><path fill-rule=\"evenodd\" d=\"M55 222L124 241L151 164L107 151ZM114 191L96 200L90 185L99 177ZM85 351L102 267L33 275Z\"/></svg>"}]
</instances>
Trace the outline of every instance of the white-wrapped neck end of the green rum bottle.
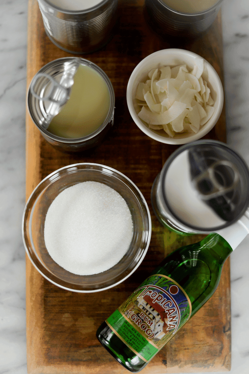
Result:
<instances>
[{"instance_id":1,"label":"white-wrapped neck end of the green rum bottle","mask_svg":"<svg viewBox=\"0 0 249 374\"><path fill-rule=\"evenodd\" d=\"M240 220L225 229L217 230L216 233L222 236L233 250L237 248L249 233L249 208Z\"/></svg>"}]
</instances>

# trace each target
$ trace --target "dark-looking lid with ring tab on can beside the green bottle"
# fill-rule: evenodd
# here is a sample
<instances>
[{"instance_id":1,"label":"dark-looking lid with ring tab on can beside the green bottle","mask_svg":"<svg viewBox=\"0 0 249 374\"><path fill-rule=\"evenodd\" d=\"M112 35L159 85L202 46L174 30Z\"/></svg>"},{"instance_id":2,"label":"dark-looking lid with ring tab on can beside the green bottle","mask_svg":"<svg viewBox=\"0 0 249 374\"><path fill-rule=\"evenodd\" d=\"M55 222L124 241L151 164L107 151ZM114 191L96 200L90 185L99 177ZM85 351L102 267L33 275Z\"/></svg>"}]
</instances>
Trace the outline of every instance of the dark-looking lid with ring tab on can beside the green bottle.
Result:
<instances>
[{"instance_id":1,"label":"dark-looking lid with ring tab on can beside the green bottle","mask_svg":"<svg viewBox=\"0 0 249 374\"><path fill-rule=\"evenodd\" d=\"M207 147L189 151L191 179L199 199L222 220L230 222L239 215L243 191L239 165L228 157L229 153Z\"/></svg>"}]
</instances>

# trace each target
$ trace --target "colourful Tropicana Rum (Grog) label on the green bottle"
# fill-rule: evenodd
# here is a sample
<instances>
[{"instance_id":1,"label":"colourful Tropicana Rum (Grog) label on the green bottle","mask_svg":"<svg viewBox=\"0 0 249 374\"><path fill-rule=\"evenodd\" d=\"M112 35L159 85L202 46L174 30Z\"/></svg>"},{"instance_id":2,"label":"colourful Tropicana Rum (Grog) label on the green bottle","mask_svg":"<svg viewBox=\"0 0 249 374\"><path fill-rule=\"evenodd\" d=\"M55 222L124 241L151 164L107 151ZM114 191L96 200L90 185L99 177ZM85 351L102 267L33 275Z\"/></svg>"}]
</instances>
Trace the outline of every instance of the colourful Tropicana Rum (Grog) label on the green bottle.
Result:
<instances>
[{"instance_id":1,"label":"colourful Tropicana Rum (Grog) label on the green bottle","mask_svg":"<svg viewBox=\"0 0 249 374\"><path fill-rule=\"evenodd\" d=\"M108 326L145 362L190 318L191 302L173 279L149 276L106 320Z\"/></svg>"}]
</instances>

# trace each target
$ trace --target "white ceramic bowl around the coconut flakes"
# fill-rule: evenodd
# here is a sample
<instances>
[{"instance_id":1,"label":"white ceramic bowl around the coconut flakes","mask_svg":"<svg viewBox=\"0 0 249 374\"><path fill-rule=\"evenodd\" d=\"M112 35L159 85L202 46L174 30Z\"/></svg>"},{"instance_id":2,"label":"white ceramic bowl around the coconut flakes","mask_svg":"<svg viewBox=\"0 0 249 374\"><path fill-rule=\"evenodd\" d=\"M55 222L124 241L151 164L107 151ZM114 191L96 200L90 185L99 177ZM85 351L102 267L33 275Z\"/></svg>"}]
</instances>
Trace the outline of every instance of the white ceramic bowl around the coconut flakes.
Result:
<instances>
[{"instance_id":1,"label":"white ceramic bowl around the coconut flakes","mask_svg":"<svg viewBox=\"0 0 249 374\"><path fill-rule=\"evenodd\" d=\"M202 77L208 82L208 86L211 89L215 111L208 122L196 134L178 133L173 138L170 138L163 130L155 131L150 129L137 115L140 111L135 99L137 85L146 78L151 69L157 67L159 64L171 66L186 64L188 68L192 69L196 58L202 57L184 49L162 49L144 58L133 70L127 85L127 105L136 125L150 138L166 144L186 144L202 138L217 123L223 107L224 93L220 77L212 65L205 59L203 59L204 71Z\"/></svg>"}]
</instances>

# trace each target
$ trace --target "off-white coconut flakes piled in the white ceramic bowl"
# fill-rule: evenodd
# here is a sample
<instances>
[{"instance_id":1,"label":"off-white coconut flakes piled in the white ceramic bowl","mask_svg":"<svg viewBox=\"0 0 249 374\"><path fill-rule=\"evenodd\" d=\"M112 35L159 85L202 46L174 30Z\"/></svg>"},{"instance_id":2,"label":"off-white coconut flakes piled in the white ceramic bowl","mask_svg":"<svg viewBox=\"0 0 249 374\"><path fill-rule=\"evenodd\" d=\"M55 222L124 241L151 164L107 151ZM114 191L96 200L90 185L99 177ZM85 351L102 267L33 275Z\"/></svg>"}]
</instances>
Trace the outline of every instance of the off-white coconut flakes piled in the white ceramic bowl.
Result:
<instances>
[{"instance_id":1,"label":"off-white coconut flakes piled in the white ceramic bowl","mask_svg":"<svg viewBox=\"0 0 249 374\"><path fill-rule=\"evenodd\" d=\"M215 110L203 70L202 58L195 59L192 70L186 64L150 70L137 86L138 117L171 138L177 133L197 133Z\"/></svg>"}]
</instances>

